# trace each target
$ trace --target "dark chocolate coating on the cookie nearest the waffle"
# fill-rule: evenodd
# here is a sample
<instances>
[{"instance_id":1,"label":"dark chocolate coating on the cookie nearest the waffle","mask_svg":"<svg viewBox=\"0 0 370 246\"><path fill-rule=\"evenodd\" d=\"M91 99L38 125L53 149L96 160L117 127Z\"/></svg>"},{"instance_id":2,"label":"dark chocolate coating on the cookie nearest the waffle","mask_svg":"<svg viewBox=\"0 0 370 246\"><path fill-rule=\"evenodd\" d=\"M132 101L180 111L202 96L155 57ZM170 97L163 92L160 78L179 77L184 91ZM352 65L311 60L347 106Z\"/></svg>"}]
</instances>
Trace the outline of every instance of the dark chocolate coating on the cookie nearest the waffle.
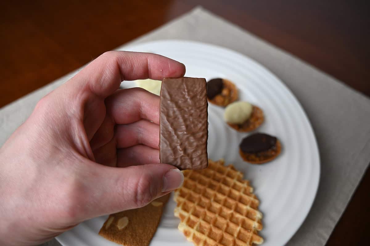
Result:
<instances>
[{"instance_id":1,"label":"dark chocolate coating on the cookie nearest the waffle","mask_svg":"<svg viewBox=\"0 0 370 246\"><path fill-rule=\"evenodd\" d=\"M239 147L244 153L257 153L269 150L276 145L276 138L264 133L255 133L243 138Z\"/></svg>"}]
</instances>

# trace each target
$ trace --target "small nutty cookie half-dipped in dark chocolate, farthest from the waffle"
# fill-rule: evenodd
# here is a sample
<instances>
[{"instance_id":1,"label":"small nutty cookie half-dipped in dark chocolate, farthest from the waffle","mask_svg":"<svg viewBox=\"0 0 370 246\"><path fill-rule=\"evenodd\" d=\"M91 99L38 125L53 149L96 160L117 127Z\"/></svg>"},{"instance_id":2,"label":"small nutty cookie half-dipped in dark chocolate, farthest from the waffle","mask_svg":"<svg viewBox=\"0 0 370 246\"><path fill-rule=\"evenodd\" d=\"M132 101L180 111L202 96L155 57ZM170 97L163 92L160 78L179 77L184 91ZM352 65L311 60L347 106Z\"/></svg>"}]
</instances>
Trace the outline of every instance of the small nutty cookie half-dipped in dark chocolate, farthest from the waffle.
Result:
<instances>
[{"instance_id":1,"label":"small nutty cookie half-dipped in dark chocolate, farthest from the waffle","mask_svg":"<svg viewBox=\"0 0 370 246\"><path fill-rule=\"evenodd\" d=\"M226 107L238 100L238 89L229 80L214 78L207 82L207 99L212 104Z\"/></svg>"}]
</instances>

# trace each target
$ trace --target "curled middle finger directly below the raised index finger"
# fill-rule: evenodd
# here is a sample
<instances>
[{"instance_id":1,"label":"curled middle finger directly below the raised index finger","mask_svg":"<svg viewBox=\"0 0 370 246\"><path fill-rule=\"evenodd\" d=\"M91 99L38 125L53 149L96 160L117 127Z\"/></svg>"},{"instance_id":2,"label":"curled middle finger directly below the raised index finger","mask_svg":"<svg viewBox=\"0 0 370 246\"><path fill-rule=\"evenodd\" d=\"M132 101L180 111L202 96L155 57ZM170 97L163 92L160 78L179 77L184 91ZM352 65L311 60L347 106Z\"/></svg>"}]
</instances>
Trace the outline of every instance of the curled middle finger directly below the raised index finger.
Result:
<instances>
[{"instance_id":1,"label":"curled middle finger directly below the raised index finger","mask_svg":"<svg viewBox=\"0 0 370 246\"><path fill-rule=\"evenodd\" d=\"M159 97L142 88L119 90L105 100L115 124L148 119L159 124Z\"/></svg>"}]
</instances>

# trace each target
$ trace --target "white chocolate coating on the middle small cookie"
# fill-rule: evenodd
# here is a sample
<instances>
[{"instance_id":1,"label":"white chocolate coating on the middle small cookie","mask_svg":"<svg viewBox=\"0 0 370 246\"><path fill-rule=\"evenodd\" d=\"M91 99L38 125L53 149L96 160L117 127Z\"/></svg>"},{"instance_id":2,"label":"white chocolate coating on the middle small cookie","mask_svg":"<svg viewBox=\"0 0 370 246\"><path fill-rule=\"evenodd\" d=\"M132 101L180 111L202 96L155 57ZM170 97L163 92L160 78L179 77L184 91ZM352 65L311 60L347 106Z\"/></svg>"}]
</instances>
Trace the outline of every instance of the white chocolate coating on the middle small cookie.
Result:
<instances>
[{"instance_id":1,"label":"white chocolate coating on the middle small cookie","mask_svg":"<svg viewBox=\"0 0 370 246\"><path fill-rule=\"evenodd\" d=\"M237 101L225 108L223 118L231 124L243 124L252 114L253 106L249 102Z\"/></svg>"}]
</instances>

